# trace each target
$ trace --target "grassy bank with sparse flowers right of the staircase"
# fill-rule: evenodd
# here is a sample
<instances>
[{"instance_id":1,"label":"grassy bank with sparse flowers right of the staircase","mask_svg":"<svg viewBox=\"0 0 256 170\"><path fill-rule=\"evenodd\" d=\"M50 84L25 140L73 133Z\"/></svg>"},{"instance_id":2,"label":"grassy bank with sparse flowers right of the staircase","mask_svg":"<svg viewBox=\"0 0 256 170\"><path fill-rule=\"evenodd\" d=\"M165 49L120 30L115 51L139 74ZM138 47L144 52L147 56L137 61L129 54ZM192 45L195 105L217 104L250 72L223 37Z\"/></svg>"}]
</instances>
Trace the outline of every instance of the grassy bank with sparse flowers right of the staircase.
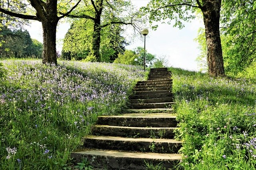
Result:
<instances>
[{"instance_id":1,"label":"grassy bank with sparse flowers right of the staircase","mask_svg":"<svg viewBox=\"0 0 256 170\"><path fill-rule=\"evenodd\" d=\"M170 68L183 141L180 166L256 169L256 82Z\"/></svg>"}]
</instances>

